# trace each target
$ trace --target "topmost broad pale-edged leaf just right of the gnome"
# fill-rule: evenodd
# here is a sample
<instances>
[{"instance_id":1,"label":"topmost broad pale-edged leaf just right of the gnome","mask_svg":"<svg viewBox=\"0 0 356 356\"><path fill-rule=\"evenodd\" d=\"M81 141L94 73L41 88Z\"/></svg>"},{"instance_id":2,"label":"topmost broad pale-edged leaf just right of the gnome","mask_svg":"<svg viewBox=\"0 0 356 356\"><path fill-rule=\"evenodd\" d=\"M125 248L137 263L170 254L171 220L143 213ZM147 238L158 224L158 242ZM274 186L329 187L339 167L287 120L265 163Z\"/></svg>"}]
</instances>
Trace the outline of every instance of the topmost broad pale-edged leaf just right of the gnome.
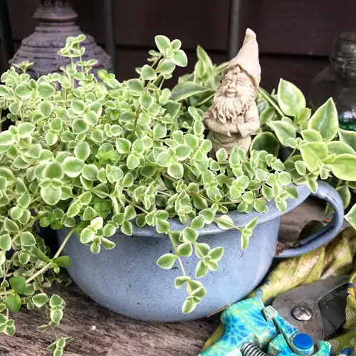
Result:
<instances>
[{"instance_id":1,"label":"topmost broad pale-edged leaf just right of the gnome","mask_svg":"<svg viewBox=\"0 0 356 356\"><path fill-rule=\"evenodd\" d=\"M303 93L293 83L287 80L280 80L277 97L278 104L286 115L296 117L298 111L305 108Z\"/></svg>"}]
</instances>

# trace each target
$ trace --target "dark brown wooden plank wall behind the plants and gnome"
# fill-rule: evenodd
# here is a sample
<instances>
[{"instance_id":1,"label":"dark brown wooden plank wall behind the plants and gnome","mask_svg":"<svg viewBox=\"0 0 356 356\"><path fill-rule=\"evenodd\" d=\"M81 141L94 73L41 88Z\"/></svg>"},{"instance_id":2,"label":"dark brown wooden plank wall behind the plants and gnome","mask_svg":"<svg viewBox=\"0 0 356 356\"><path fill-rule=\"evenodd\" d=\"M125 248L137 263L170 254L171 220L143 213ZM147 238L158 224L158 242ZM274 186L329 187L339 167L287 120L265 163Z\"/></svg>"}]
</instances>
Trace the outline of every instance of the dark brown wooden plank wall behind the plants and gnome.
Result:
<instances>
[{"instance_id":1,"label":"dark brown wooden plank wall behind the plants and gnome","mask_svg":"<svg viewBox=\"0 0 356 356\"><path fill-rule=\"evenodd\" d=\"M333 40L356 30L355 0L241 0L241 32L256 31L260 46L262 85L274 88L279 78L304 91L328 65ZM105 45L101 0L73 0L78 24ZM9 0L16 46L36 26L31 15L35 0ZM135 75L145 63L156 34L179 38L192 70L200 44L216 63L226 60L229 0L115 0L117 73L120 80Z\"/></svg>"}]
</instances>

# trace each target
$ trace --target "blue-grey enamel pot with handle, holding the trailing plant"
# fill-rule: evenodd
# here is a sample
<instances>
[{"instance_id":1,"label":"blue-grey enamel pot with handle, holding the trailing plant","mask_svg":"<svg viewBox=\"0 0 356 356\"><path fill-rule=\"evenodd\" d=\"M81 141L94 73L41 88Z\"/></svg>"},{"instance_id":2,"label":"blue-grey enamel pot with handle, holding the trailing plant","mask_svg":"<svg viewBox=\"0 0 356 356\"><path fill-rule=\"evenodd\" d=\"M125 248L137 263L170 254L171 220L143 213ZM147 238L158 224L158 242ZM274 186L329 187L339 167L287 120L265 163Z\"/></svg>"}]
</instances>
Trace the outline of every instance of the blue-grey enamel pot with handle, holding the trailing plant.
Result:
<instances>
[{"instance_id":1,"label":"blue-grey enamel pot with handle, holding the trailing plant","mask_svg":"<svg viewBox=\"0 0 356 356\"><path fill-rule=\"evenodd\" d=\"M288 199L286 212L301 204L310 191L305 185L297 187L298 199ZM325 182L319 182L315 197L330 203L335 211L333 220L322 230L299 241L296 248L288 248L276 256L278 228L281 213L273 201L268 203L267 214L252 212L241 214L231 211L229 216L237 226L244 226L253 217L258 225L253 231L250 244L241 251L240 236L236 230L222 231L215 224L204 226L199 231L199 242L211 248L224 246L224 257L219 270L202 278L206 297L193 313L184 315L182 304L187 291L174 288L174 278L181 276L178 266L163 270L156 264L157 258L172 251L167 236L159 235L152 227L135 226L133 236L115 234L110 239L116 247L111 251L102 249L98 255L72 236L63 254L70 256L68 268L73 281L93 300L117 313L149 321L176 322L205 317L225 305L241 300L258 286L271 266L273 258L299 256L332 240L342 226L343 206L339 194ZM172 219L171 229L182 229L178 219ZM58 231L61 243L67 230ZM183 258L187 274L194 276L198 259Z\"/></svg>"}]
</instances>

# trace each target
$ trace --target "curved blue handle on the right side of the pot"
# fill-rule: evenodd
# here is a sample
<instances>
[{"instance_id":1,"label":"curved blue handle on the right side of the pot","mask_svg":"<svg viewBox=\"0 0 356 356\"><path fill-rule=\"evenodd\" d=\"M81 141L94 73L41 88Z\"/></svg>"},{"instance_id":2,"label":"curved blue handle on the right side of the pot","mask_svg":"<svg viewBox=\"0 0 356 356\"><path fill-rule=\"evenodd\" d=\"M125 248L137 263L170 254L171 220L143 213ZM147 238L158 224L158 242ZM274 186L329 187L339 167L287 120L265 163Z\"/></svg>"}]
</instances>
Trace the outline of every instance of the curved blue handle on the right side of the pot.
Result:
<instances>
[{"instance_id":1,"label":"curved blue handle on the right side of the pot","mask_svg":"<svg viewBox=\"0 0 356 356\"><path fill-rule=\"evenodd\" d=\"M344 205L340 195L328 183L318 181L318 191L315 194L310 194L313 197L327 201L334 209L333 219L329 224L325 225L320 231L311 234L303 240L298 241L299 246L296 248L286 248L283 252L275 255L276 258L287 258L303 255L315 250L329 241L333 240L340 231L344 221Z\"/></svg>"}]
</instances>

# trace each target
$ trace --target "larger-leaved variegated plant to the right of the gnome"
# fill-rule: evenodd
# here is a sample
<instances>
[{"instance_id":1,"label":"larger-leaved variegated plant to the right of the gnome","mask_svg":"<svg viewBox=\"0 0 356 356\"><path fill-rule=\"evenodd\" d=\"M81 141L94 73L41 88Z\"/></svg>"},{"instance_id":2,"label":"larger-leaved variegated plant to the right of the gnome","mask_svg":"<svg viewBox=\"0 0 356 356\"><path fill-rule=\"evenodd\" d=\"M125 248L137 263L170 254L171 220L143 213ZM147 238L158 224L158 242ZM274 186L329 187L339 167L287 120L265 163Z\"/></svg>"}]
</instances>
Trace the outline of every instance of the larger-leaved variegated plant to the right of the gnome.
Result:
<instances>
[{"instance_id":1,"label":"larger-leaved variegated plant to the right of the gnome","mask_svg":"<svg viewBox=\"0 0 356 356\"><path fill-rule=\"evenodd\" d=\"M284 163L293 182L306 183L312 192L318 188L318 177L327 180L336 187L347 209L350 189L356 188L356 133L339 128L333 99L311 115L303 93L292 83L281 80L277 94L273 91L270 95L260 88L257 105L262 125L251 147L277 157L288 156ZM271 145L273 140L281 142L281 149ZM325 214L332 212L328 205ZM354 208L345 219L356 228Z\"/></svg>"}]
</instances>

